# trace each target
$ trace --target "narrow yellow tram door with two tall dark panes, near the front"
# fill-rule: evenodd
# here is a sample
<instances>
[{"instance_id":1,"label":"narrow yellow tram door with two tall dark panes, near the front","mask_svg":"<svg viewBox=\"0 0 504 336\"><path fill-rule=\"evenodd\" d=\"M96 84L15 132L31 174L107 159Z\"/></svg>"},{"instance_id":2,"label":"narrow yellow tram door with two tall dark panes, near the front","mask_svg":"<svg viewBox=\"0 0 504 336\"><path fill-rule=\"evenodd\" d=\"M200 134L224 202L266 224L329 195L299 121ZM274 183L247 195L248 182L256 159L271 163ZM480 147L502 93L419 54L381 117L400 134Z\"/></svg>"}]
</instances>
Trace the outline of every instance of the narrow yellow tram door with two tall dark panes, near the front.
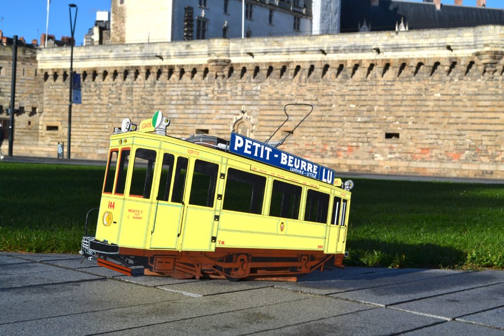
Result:
<instances>
[{"instance_id":1,"label":"narrow yellow tram door with two tall dark panes, near the front","mask_svg":"<svg viewBox=\"0 0 504 336\"><path fill-rule=\"evenodd\" d=\"M161 167L154 226L151 231L150 248L177 247L184 213L184 191L188 159L161 153Z\"/></svg>"}]
</instances>

